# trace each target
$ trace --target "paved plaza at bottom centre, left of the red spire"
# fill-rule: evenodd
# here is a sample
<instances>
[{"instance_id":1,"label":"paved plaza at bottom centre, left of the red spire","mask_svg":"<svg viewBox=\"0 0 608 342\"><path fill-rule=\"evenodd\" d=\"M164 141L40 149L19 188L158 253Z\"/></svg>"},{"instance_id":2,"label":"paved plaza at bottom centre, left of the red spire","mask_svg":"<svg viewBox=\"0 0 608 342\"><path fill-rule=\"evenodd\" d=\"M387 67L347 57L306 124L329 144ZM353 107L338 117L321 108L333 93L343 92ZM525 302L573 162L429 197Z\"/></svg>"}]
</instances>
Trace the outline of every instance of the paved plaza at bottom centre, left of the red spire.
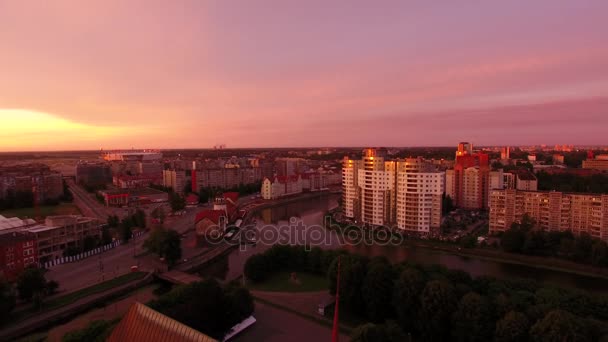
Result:
<instances>
[{"instance_id":1,"label":"paved plaza at bottom centre, left of the red spire","mask_svg":"<svg viewBox=\"0 0 608 342\"><path fill-rule=\"evenodd\" d=\"M270 305L256 302L257 322L235 337L233 342L309 342L331 341L331 328L302 318L291 312L277 309ZM340 334L340 341L350 341L349 337Z\"/></svg>"}]
</instances>

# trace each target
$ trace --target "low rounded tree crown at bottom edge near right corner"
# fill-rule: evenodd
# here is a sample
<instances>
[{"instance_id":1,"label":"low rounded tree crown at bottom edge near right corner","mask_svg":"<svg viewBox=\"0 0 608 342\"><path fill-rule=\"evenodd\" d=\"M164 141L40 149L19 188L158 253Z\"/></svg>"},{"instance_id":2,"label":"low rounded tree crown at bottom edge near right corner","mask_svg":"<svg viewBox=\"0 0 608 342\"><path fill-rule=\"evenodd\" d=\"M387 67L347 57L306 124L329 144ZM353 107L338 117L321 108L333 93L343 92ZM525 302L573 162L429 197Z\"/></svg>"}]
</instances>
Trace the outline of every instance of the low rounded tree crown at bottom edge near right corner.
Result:
<instances>
[{"instance_id":1,"label":"low rounded tree crown at bottom edge near right corner","mask_svg":"<svg viewBox=\"0 0 608 342\"><path fill-rule=\"evenodd\" d=\"M568 311L553 310L530 329L530 337L538 342L589 341L585 326Z\"/></svg>"}]
</instances>

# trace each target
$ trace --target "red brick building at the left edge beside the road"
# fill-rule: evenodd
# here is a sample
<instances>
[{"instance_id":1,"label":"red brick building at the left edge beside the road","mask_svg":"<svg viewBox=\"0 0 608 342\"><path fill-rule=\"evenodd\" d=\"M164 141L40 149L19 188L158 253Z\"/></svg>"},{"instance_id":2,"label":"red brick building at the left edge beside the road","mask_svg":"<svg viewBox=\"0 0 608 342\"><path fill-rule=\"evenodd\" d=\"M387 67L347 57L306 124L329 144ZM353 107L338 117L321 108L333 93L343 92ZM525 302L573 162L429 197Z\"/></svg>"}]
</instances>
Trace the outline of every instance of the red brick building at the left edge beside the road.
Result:
<instances>
[{"instance_id":1,"label":"red brick building at the left edge beside the road","mask_svg":"<svg viewBox=\"0 0 608 342\"><path fill-rule=\"evenodd\" d=\"M0 235L0 276L14 281L29 265L38 265L34 235L12 232Z\"/></svg>"}]
</instances>

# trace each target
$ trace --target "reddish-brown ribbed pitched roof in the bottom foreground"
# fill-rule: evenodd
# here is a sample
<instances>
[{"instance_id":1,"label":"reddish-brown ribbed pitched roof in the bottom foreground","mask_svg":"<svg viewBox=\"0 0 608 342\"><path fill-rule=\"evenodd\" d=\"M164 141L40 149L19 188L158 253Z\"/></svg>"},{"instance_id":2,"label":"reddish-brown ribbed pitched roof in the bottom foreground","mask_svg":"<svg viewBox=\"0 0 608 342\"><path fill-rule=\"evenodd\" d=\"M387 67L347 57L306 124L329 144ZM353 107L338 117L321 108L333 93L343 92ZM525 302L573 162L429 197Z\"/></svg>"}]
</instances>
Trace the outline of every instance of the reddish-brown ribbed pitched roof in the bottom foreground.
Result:
<instances>
[{"instance_id":1,"label":"reddish-brown ribbed pitched roof in the bottom foreground","mask_svg":"<svg viewBox=\"0 0 608 342\"><path fill-rule=\"evenodd\" d=\"M158 311L135 303L120 320L109 342L154 342L154 341L196 341L217 342L217 340L190 328Z\"/></svg>"}]
</instances>

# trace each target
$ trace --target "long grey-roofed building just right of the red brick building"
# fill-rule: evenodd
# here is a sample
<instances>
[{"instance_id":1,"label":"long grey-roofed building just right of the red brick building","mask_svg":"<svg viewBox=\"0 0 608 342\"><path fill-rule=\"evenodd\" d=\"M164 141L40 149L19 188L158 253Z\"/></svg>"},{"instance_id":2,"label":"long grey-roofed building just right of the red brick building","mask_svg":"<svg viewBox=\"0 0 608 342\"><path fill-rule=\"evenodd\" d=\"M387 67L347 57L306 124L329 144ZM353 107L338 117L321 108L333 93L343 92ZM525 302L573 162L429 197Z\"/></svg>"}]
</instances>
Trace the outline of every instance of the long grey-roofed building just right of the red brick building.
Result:
<instances>
[{"instance_id":1,"label":"long grey-roofed building just right of the red brick building","mask_svg":"<svg viewBox=\"0 0 608 342\"><path fill-rule=\"evenodd\" d=\"M44 225L27 227L22 232L34 237L42 264L61 258L68 247L82 248L87 236L101 238L97 219L78 215L48 216Z\"/></svg>"}]
</instances>

